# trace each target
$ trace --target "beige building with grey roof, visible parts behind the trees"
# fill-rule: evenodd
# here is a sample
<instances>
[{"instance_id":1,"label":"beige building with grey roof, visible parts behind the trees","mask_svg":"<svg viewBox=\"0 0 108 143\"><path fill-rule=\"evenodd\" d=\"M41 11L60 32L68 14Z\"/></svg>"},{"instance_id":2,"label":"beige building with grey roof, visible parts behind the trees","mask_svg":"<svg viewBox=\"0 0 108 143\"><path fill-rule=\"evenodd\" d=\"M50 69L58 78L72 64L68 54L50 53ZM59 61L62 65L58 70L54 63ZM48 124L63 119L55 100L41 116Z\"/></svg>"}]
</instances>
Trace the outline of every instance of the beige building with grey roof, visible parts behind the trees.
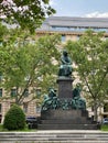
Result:
<instances>
[{"instance_id":1,"label":"beige building with grey roof, visible parts behind the trees","mask_svg":"<svg viewBox=\"0 0 108 143\"><path fill-rule=\"evenodd\" d=\"M105 32L105 38L108 38L108 19L105 18L71 18L71 16L50 16L42 26L35 31L36 36L43 36L45 34L58 33L62 35L62 42L68 40L77 41L83 33L91 29L95 32ZM14 91L13 91L14 92ZM0 88L0 97L4 95L4 90ZM9 110L13 101L1 100L0 101L0 122L3 121L6 112ZM108 117L108 106L99 109L98 114L104 118ZM26 116L40 116L40 107L36 101L31 101L29 105L23 103L22 109ZM91 109L89 109L91 114ZM93 114L91 114L93 116Z\"/></svg>"}]
</instances>

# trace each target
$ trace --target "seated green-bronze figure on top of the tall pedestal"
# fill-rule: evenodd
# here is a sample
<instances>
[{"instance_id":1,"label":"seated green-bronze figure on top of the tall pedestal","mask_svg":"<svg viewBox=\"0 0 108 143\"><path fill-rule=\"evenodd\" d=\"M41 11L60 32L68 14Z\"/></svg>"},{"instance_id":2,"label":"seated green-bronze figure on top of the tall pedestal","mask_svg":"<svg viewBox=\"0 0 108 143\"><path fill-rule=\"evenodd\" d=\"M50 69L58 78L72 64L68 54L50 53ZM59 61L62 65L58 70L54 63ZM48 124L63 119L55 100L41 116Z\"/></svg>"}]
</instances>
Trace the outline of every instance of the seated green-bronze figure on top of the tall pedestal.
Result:
<instances>
[{"instance_id":1,"label":"seated green-bronze figure on top of the tall pedestal","mask_svg":"<svg viewBox=\"0 0 108 143\"><path fill-rule=\"evenodd\" d=\"M72 61L68 56L67 51L63 51L63 55L61 57L62 65L60 67L58 76L69 77L72 75Z\"/></svg>"}]
</instances>

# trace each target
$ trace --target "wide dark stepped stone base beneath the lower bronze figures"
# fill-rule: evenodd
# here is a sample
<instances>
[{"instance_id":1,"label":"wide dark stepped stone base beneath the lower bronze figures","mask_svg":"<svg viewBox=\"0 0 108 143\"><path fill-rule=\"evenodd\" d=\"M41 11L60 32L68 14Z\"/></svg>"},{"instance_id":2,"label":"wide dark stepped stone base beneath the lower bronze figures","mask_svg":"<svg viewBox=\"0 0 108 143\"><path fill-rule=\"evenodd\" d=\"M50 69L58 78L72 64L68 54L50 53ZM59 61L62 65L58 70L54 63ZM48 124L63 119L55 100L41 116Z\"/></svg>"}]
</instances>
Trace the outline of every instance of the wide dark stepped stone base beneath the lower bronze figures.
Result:
<instances>
[{"instance_id":1,"label":"wide dark stepped stone base beneath the lower bronze figures","mask_svg":"<svg viewBox=\"0 0 108 143\"><path fill-rule=\"evenodd\" d=\"M82 110L47 110L41 113L39 130L97 130L98 127Z\"/></svg>"}]
</instances>

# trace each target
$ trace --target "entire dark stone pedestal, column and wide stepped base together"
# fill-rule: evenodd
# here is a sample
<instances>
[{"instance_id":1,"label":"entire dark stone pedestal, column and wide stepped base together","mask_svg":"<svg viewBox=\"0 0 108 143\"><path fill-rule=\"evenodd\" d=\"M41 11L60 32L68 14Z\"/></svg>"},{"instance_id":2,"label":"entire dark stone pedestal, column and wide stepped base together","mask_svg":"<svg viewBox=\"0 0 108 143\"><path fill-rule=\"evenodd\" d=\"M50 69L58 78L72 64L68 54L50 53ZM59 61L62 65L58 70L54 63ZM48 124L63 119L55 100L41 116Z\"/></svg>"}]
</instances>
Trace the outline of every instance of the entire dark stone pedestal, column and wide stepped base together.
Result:
<instances>
[{"instance_id":1,"label":"entire dark stone pedestal, column and wide stepped base together","mask_svg":"<svg viewBox=\"0 0 108 143\"><path fill-rule=\"evenodd\" d=\"M73 99L73 79L69 77L60 77L58 100L61 106L56 109L41 111L41 120L37 124L39 130L96 130L97 124L88 118L88 111L73 109L71 100ZM64 101L68 102L71 108L63 108ZM66 105L65 105L66 106Z\"/></svg>"}]
</instances>

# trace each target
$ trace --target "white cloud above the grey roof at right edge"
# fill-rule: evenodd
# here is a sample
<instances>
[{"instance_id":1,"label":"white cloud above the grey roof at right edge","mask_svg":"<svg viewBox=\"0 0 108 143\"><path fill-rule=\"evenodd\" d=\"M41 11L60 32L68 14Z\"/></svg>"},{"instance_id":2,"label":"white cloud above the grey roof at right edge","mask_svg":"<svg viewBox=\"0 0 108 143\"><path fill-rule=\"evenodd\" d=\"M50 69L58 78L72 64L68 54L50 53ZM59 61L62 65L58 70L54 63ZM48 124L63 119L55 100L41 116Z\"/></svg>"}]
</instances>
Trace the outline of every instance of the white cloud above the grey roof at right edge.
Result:
<instances>
[{"instance_id":1,"label":"white cloud above the grey roof at right edge","mask_svg":"<svg viewBox=\"0 0 108 143\"><path fill-rule=\"evenodd\" d=\"M96 11L93 13L85 14L84 16L86 16L86 18L108 18L108 12L100 13L100 12Z\"/></svg>"}]
</instances>

